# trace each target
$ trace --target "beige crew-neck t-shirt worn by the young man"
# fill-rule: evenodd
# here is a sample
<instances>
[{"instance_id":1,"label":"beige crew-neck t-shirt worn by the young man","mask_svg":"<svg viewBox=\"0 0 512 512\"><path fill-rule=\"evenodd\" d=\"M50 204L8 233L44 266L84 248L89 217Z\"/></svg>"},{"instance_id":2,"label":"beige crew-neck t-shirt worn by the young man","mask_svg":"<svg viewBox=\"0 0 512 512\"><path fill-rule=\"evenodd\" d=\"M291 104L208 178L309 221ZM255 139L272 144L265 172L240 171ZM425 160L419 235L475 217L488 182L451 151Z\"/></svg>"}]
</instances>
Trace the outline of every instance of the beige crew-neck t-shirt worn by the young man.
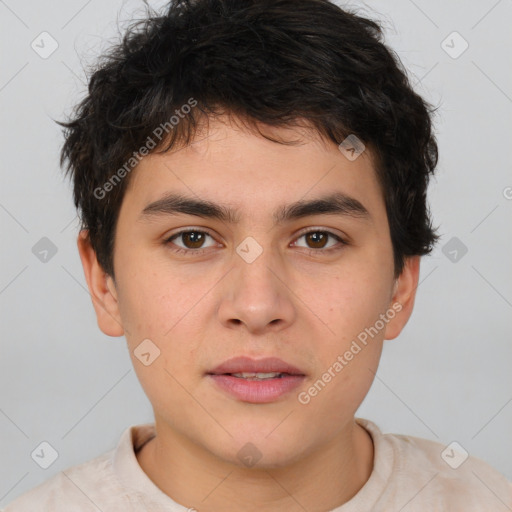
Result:
<instances>
[{"instance_id":1,"label":"beige crew-neck t-shirt worn by the young man","mask_svg":"<svg viewBox=\"0 0 512 512\"><path fill-rule=\"evenodd\" d=\"M512 511L512 483L485 462L464 460L453 445L382 434L374 423L357 421L373 439L373 471L349 502L331 512ZM139 466L135 452L154 435L152 423L127 428L116 449L61 471L4 512L193 510L164 494Z\"/></svg>"}]
</instances>

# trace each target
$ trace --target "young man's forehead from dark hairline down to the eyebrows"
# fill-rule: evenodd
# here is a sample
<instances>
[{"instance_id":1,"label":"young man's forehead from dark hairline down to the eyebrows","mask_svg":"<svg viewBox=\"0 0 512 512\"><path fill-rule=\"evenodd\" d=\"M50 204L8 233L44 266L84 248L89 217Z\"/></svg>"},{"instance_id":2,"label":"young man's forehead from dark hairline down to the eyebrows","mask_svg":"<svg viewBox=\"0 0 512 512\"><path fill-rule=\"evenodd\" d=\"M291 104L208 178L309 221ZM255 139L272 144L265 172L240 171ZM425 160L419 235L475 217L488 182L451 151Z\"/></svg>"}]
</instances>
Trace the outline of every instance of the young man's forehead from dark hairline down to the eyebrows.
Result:
<instances>
[{"instance_id":1,"label":"young man's forehead from dark hairline down to the eyebrows","mask_svg":"<svg viewBox=\"0 0 512 512\"><path fill-rule=\"evenodd\" d=\"M291 143L268 140L225 120L210 120L189 145L144 157L133 171L125 201L149 214L165 210L166 200L170 212L189 199L184 213L194 208L194 201L202 201L203 213L209 204L212 216L233 222L264 210L275 223L292 218L301 207L307 209L308 200L327 196L327 208L337 203L354 216L366 213L370 219L382 213L369 149L350 160L308 128L265 126L262 132Z\"/></svg>"}]
</instances>

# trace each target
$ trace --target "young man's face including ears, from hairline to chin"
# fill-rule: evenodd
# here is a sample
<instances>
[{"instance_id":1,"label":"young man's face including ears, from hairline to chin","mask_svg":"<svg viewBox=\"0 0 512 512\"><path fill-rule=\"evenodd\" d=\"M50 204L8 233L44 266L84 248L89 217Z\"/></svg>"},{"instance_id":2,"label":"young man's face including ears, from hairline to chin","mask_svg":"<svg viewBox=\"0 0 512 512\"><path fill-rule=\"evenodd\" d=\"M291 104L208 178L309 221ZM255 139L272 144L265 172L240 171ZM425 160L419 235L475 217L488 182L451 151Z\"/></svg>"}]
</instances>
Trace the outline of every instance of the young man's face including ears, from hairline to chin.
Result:
<instances>
[{"instance_id":1,"label":"young man's face including ears, from hairline to chin","mask_svg":"<svg viewBox=\"0 0 512 512\"><path fill-rule=\"evenodd\" d=\"M145 157L119 214L115 282L79 247L99 325L126 336L159 433L236 464L251 442L261 464L275 467L353 424L383 340L409 318L418 259L394 280L368 150L353 160L306 129L265 132L301 143L218 119L191 145ZM232 209L233 218L176 211L160 201L171 193ZM352 202L283 214L334 193ZM209 375L237 356L279 358L302 376L284 384ZM236 394L223 385L234 380Z\"/></svg>"}]
</instances>

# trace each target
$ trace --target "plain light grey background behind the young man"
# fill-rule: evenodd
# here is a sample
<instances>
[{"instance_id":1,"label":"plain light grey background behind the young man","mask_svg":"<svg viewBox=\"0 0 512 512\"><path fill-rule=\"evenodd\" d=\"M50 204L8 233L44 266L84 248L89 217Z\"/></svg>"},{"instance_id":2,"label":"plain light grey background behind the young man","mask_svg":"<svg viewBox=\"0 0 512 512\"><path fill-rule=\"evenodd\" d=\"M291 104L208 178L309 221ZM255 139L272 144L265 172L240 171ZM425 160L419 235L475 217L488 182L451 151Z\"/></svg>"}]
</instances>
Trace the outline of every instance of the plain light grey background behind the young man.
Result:
<instances>
[{"instance_id":1,"label":"plain light grey background behind the young man","mask_svg":"<svg viewBox=\"0 0 512 512\"><path fill-rule=\"evenodd\" d=\"M0 1L0 506L152 421L124 338L96 324L52 121L82 97L84 66L116 37L118 19L141 5ZM416 90L441 105L430 204L443 237L422 260L415 312L386 342L358 416L386 432L456 440L512 479L512 1L349 5L384 21ZM31 47L51 49L43 31L58 43L48 58ZM454 31L469 44L457 58ZM32 251L43 237L57 249L46 262ZM31 458L42 441L59 454L48 469Z\"/></svg>"}]
</instances>

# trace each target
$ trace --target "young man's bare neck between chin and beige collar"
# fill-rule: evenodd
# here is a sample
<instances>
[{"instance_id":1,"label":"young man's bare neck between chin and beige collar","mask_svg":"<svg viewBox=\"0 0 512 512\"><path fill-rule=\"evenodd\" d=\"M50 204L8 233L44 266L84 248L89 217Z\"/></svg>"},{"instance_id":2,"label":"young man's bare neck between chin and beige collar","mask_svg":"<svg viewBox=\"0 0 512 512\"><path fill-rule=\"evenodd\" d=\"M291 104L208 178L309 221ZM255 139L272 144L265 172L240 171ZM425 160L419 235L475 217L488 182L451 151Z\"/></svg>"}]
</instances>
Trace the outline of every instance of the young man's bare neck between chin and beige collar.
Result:
<instances>
[{"instance_id":1,"label":"young man's bare neck between chin and beige collar","mask_svg":"<svg viewBox=\"0 0 512 512\"><path fill-rule=\"evenodd\" d=\"M169 429L137 454L143 471L174 501L201 512L328 511L349 501L373 468L373 443L351 422L314 453L286 466L243 468Z\"/></svg>"}]
</instances>

